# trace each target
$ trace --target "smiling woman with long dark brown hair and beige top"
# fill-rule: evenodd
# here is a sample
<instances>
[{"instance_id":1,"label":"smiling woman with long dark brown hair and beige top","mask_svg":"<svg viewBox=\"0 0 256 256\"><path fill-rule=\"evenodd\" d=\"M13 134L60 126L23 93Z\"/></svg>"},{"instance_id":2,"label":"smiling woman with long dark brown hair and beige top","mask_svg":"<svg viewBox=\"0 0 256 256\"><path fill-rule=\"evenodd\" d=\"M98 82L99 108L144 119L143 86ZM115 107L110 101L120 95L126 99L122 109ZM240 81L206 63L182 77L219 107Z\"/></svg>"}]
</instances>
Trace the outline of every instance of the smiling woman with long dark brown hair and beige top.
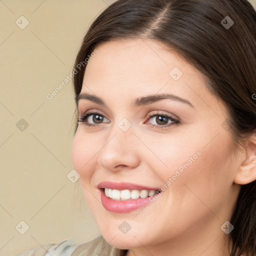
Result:
<instances>
[{"instance_id":1,"label":"smiling woman with long dark brown hair and beige top","mask_svg":"<svg viewBox=\"0 0 256 256\"><path fill-rule=\"evenodd\" d=\"M72 161L101 235L31 255L255 256L255 70L246 0L108 6L73 72Z\"/></svg>"}]
</instances>

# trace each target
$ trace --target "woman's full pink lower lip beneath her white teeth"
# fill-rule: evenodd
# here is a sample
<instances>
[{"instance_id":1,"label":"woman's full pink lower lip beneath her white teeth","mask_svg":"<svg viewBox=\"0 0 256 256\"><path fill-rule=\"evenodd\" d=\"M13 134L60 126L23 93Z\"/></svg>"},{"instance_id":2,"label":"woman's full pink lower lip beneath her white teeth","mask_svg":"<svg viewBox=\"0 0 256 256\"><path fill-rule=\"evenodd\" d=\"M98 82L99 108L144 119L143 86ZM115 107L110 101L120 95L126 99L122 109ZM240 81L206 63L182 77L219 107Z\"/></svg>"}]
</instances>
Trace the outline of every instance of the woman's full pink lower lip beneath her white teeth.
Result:
<instances>
[{"instance_id":1,"label":"woman's full pink lower lip beneath her white teeth","mask_svg":"<svg viewBox=\"0 0 256 256\"><path fill-rule=\"evenodd\" d=\"M103 206L108 211L121 213L133 211L143 205L150 203L150 197L129 200L113 200L107 197L102 189L100 189L100 198Z\"/></svg>"}]
</instances>

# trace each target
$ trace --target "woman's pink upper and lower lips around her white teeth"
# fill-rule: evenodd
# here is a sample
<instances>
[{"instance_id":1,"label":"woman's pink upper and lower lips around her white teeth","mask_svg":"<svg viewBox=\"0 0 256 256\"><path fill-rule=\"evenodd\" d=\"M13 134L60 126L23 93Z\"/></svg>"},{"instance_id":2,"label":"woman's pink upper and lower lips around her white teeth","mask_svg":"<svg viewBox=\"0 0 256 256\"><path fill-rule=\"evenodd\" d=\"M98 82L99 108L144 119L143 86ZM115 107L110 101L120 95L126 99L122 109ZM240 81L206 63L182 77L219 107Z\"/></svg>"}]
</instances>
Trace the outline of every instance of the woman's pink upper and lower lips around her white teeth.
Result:
<instances>
[{"instance_id":1,"label":"woman's pink upper and lower lips around her white teeth","mask_svg":"<svg viewBox=\"0 0 256 256\"><path fill-rule=\"evenodd\" d=\"M100 199L105 209L107 209L108 211L120 212L120 213L130 212L143 205L150 203L151 202L149 200L150 197L129 199L129 200L113 200L105 195L102 188L107 187L107 188L118 189L118 190L124 190L124 189L129 189L129 190L146 189L146 190L156 190L156 191L160 190L159 188L155 188L155 187L141 186L141 185L126 183L126 182L111 182L111 181L100 182L97 185L97 187L100 189Z\"/></svg>"}]
</instances>

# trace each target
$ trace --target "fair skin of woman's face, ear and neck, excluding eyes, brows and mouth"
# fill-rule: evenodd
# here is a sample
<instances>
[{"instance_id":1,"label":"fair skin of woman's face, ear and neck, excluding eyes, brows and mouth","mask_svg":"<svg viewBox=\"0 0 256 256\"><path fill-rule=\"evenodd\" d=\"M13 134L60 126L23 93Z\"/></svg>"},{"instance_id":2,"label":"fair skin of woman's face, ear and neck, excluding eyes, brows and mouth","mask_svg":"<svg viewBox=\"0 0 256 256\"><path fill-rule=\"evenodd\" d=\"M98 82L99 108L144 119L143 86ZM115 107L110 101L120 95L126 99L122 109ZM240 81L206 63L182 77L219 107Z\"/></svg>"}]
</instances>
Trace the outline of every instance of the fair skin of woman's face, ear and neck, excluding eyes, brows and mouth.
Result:
<instances>
[{"instance_id":1,"label":"fair skin of woman's face, ear and neck, excluding eyes, brows and mouth","mask_svg":"<svg viewBox=\"0 0 256 256\"><path fill-rule=\"evenodd\" d=\"M107 107L81 99L78 111L81 115L97 110L105 118L94 127L79 123L72 161L100 233L109 244L129 249L128 256L229 255L228 235L220 226L230 219L239 184L256 178L256 170L245 162L248 152L250 160L254 157L256 148L234 154L230 131L221 125L228 117L224 104L206 88L204 76L164 44L116 40L97 49L87 64L81 93L99 96ZM183 72L176 81L169 75L173 67ZM175 94L193 107L172 99L131 106L134 98L155 93ZM150 126L167 123L146 118L155 112L180 122L165 128ZM95 124L92 117L87 121ZM127 131L117 125L122 118L131 124ZM102 206L99 182L160 188L198 150L200 156L144 208L116 213ZM126 234L118 228L123 221L131 227Z\"/></svg>"}]
</instances>

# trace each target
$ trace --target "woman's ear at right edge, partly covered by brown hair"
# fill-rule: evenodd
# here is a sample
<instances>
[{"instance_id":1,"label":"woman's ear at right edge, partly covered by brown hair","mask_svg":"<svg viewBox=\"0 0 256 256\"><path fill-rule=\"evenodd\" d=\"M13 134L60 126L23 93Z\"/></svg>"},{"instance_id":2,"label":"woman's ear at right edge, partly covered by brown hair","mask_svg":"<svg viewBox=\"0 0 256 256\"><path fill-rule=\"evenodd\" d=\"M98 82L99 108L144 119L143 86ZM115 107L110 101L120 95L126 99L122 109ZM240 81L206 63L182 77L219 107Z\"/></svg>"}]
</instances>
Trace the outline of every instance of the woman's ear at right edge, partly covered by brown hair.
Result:
<instances>
[{"instance_id":1,"label":"woman's ear at right edge, partly covered by brown hair","mask_svg":"<svg viewBox=\"0 0 256 256\"><path fill-rule=\"evenodd\" d=\"M256 180L256 131L246 141L245 159L234 176L234 183L244 185Z\"/></svg>"}]
</instances>

